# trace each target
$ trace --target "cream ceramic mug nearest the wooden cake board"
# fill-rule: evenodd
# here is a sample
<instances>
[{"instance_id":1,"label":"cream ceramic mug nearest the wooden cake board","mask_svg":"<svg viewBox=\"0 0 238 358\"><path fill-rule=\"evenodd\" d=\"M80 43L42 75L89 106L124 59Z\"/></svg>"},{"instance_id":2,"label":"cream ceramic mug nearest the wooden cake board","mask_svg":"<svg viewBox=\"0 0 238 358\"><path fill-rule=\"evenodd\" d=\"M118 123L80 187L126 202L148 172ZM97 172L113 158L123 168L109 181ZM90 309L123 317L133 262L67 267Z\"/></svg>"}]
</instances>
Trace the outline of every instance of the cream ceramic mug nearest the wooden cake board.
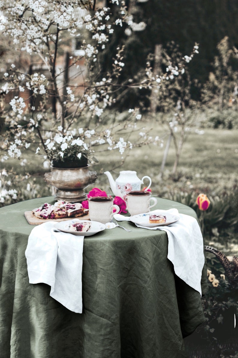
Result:
<instances>
[{"instance_id":1,"label":"cream ceramic mug nearest the wooden cake board","mask_svg":"<svg viewBox=\"0 0 238 358\"><path fill-rule=\"evenodd\" d=\"M113 208L116 212L113 212ZM89 218L91 221L98 221L106 224L111 221L114 214L120 211L118 205L113 204L111 197L92 197L88 199Z\"/></svg>"}]
</instances>

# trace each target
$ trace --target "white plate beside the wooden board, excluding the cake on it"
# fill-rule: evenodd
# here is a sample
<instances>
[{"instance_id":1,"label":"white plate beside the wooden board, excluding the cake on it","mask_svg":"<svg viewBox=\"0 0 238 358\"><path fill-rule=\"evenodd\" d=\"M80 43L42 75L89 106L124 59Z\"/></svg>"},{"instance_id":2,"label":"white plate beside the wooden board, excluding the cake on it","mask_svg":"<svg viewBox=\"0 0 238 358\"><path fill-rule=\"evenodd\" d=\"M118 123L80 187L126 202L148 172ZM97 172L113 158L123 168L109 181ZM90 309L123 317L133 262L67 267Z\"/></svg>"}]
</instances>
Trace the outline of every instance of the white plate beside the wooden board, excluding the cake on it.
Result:
<instances>
[{"instance_id":1,"label":"white plate beside the wooden board, excluding the cake on it","mask_svg":"<svg viewBox=\"0 0 238 358\"><path fill-rule=\"evenodd\" d=\"M69 221L61 221L61 222L57 222L54 224L54 227L57 230L60 230L62 232L67 232L73 235L78 235L78 236L91 236L94 234L97 234L98 232L105 230L106 229L106 225L97 222L97 221L90 221L91 223L91 228L86 231L86 232L82 232L82 231L70 231L69 230L69 225L76 223L76 222L85 222L87 220L80 220L80 219L73 219L73 220L69 220Z\"/></svg>"}]
</instances>

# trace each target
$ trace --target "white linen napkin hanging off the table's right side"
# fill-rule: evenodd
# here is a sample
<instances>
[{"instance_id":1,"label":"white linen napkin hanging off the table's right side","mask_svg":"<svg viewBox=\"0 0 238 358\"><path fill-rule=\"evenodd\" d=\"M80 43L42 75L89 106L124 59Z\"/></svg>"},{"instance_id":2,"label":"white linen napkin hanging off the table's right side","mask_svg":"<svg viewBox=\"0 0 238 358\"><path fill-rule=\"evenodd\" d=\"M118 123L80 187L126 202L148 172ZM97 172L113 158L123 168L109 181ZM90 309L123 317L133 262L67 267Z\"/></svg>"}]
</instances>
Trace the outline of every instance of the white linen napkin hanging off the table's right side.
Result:
<instances>
[{"instance_id":1,"label":"white linen napkin hanging off the table's right side","mask_svg":"<svg viewBox=\"0 0 238 358\"><path fill-rule=\"evenodd\" d=\"M164 230L168 235L168 259L173 263L174 272L189 286L202 295L201 277L205 262L203 237L195 218L178 213L177 209L155 210L151 213L168 212L179 216L179 220L169 226L145 227L143 229Z\"/></svg>"}]
</instances>

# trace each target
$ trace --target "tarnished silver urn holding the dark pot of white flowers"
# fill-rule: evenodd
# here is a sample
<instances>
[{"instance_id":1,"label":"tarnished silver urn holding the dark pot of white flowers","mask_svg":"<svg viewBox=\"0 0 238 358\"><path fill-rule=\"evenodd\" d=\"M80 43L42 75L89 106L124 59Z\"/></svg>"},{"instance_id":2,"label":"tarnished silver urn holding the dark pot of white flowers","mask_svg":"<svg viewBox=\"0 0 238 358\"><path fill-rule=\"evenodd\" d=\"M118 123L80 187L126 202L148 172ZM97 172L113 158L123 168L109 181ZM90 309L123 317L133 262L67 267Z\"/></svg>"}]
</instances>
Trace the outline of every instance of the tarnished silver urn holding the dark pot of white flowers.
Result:
<instances>
[{"instance_id":1,"label":"tarnished silver urn holding the dark pot of white flowers","mask_svg":"<svg viewBox=\"0 0 238 358\"><path fill-rule=\"evenodd\" d=\"M51 166L51 172L45 173L44 180L57 189L55 200L69 203L81 203L87 199L83 189L95 182L96 171L89 170L90 165L83 168L56 168Z\"/></svg>"}]
</instances>

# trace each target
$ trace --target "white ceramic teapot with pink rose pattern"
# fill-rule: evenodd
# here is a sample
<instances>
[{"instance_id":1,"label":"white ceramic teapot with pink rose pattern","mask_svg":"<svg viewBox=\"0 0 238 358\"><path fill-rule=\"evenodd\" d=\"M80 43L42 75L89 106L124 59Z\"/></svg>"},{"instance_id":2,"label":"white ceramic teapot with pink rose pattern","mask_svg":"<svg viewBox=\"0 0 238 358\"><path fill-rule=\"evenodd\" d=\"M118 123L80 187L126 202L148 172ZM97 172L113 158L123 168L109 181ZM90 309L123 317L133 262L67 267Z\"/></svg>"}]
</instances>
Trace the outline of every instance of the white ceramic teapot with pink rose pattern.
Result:
<instances>
[{"instance_id":1,"label":"white ceramic teapot with pink rose pattern","mask_svg":"<svg viewBox=\"0 0 238 358\"><path fill-rule=\"evenodd\" d=\"M136 175L136 171L120 171L120 175L116 180L112 178L112 175L109 171L105 171L104 174L107 175L113 194L115 196L121 197L124 200L127 199L127 193L131 192L132 190L141 190L141 184L143 184L143 180L145 178L149 179L150 181L148 187L145 190L148 190L151 186L150 176L145 175L140 180Z\"/></svg>"}]
</instances>

